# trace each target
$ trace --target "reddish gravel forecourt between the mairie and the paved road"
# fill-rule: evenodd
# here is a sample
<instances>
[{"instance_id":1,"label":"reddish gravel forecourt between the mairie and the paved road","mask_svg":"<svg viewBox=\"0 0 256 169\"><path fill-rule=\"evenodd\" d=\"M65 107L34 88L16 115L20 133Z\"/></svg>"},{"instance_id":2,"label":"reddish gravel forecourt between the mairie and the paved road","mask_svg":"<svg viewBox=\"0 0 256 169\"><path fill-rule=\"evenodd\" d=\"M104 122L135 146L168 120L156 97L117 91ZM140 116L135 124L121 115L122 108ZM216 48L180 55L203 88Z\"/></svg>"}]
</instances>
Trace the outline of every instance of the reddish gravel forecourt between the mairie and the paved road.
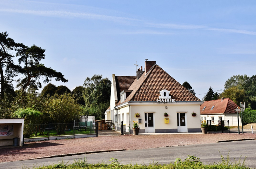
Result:
<instances>
[{"instance_id":1,"label":"reddish gravel forecourt between the mairie and the paved road","mask_svg":"<svg viewBox=\"0 0 256 169\"><path fill-rule=\"evenodd\" d=\"M256 138L256 134L210 133L174 135L114 135L25 143L23 147L0 149L0 162L27 160L50 155L115 149L147 149L189 144L216 143L220 140ZM217 143L216 143L217 144Z\"/></svg>"}]
</instances>

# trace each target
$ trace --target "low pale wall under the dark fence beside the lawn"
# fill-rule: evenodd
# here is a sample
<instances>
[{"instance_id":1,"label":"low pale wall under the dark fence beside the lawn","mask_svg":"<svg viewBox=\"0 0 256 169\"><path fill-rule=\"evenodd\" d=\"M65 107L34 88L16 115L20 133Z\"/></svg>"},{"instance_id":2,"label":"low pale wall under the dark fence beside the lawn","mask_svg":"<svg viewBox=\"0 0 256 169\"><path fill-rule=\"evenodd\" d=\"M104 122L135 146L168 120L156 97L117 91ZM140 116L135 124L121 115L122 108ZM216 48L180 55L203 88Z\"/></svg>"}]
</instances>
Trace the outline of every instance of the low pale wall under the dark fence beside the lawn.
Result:
<instances>
[{"instance_id":1,"label":"low pale wall under the dark fence beside the lawn","mask_svg":"<svg viewBox=\"0 0 256 169\"><path fill-rule=\"evenodd\" d=\"M86 138L86 137L96 137L96 134L75 134L75 138ZM66 139L66 138L74 138L74 135L50 136L49 140ZM24 138L24 142L42 141L42 140L48 140L48 137Z\"/></svg>"}]
</instances>

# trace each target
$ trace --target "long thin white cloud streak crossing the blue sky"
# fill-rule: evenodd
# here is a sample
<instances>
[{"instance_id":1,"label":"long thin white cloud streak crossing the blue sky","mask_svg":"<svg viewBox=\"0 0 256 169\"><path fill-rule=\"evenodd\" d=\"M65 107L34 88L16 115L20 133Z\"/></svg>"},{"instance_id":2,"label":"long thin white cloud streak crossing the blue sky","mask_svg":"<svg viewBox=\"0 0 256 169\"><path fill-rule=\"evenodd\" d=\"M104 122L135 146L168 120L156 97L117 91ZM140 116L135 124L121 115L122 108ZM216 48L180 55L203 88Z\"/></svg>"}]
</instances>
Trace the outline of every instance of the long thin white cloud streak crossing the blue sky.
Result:
<instances>
[{"instance_id":1,"label":"long thin white cloud streak crossing the blue sky","mask_svg":"<svg viewBox=\"0 0 256 169\"><path fill-rule=\"evenodd\" d=\"M218 31L226 33L238 33L247 35L256 35L256 32L239 30L239 29L225 29L225 28L211 28L203 25L186 25L186 24L173 24L173 23L149 23L144 22L139 19L110 16L110 15L99 15L93 13L76 13L67 11L36 11L36 10L19 10L19 9L0 9L0 12L10 12L10 13L21 13L21 14L31 14L39 16L49 16L49 17L61 17L61 18L83 18L92 20L105 20L112 22L120 22L125 24L130 24L131 22L140 22L140 26L154 27L154 28L165 28L165 29L201 29L206 31ZM135 24L137 25L137 24ZM166 32L155 32L155 31L139 31L139 32L127 32L126 34L173 34Z\"/></svg>"}]
</instances>

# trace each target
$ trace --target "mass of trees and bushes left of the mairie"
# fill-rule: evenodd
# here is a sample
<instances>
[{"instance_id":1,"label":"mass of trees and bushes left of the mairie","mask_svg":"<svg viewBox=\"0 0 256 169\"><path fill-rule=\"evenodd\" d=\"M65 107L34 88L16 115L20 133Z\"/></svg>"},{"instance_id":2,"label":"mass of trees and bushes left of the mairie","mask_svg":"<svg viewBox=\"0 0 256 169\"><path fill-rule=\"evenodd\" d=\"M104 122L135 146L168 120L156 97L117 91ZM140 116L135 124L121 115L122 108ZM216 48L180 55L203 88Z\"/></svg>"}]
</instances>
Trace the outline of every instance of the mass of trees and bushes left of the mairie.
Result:
<instances>
[{"instance_id":1,"label":"mass of trees and bushes left of the mairie","mask_svg":"<svg viewBox=\"0 0 256 169\"><path fill-rule=\"evenodd\" d=\"M50 83L52 78L68 80L61 72L43 65L42 59L45 49L16 43L6 32L0 33L0 119L24 118L25 136L37 124L54 123L58 134L62 134L65 124L78 120L81 115L104 119L110 102L108 78L95 74L71 91L66 86ZM41 81L48 84L39 92ZM17 83L16 89L13 82Z\"/></svg>"}]
</instances>

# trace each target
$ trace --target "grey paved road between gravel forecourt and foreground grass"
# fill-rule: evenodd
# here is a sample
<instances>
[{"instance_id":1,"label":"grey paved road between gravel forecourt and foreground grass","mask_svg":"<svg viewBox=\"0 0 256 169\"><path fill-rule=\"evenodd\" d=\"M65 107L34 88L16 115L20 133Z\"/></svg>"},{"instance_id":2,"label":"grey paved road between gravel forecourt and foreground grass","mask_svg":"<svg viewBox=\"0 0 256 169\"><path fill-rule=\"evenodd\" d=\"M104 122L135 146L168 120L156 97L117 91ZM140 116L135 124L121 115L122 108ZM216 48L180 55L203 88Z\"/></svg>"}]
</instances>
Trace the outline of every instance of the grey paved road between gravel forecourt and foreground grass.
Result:
<instances>
[{"instance_id":1,"label":"grey paved road between gravel forecourt and foreground grass","mask_svg":"<svg viewBox=\"0 0 256 169\"><path fill-rule=\"evenodd\" d=\"M49 165L58 163L58 161L66 161L72 163L74 159L87 158L88 163L98 162L109 162L111 157L117 158L117 160L123 164L131 163L135 164L149 164L149 162L158 161L159 164L174 162L176 158L187 158L187 155L194 155L199 157L204 163L220 162L220 153L224 157L227 156L230 150L230 160L234 161L234 158L238 158L242 155L242 161L247 156L247 166L250 168L256 167L256 140L249 141L235 141L235 142L223 142L223 143L212 143L212 144L198 144L188 146L177 146L177 147L164 147L164 148L152 148L152 149L141 149L141 150L129 150L129 151L117 151L108 153L97 153L87 154L79 156L68 156L68 157L56 157L56 158L45 158L39 160L26 160L17 162L5 162L0 163L0 169L14 169L26 166L31 168L33 164L38 166Z\"/></svg>"}]
</instances>

